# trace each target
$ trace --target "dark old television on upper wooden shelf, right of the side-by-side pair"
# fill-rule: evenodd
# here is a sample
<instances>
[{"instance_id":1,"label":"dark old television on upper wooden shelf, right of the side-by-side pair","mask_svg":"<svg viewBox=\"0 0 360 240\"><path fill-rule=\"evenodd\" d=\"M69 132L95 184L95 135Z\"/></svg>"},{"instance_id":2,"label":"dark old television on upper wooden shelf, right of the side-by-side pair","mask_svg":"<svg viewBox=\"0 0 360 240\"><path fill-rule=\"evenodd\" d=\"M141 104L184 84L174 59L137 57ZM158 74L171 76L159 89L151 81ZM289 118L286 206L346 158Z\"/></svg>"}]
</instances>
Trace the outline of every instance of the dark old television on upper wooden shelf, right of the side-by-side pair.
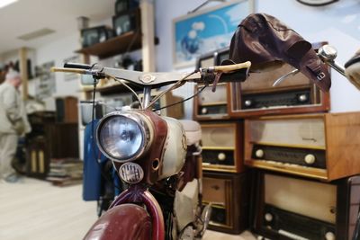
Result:
<instances>
[{"instance_id":1,"label":"dark old television on upper wooden shelf, right of the side-by-side pair","mask_svg":"<svg viewBox=\"0 0 360 240\"><path fill-rule=\"evenodd\" d=\"M112 28L116 36L119 36L129 31L139 30L139 26L139 8L125 11L112 17Z\"/></svg>"}]
</instances>

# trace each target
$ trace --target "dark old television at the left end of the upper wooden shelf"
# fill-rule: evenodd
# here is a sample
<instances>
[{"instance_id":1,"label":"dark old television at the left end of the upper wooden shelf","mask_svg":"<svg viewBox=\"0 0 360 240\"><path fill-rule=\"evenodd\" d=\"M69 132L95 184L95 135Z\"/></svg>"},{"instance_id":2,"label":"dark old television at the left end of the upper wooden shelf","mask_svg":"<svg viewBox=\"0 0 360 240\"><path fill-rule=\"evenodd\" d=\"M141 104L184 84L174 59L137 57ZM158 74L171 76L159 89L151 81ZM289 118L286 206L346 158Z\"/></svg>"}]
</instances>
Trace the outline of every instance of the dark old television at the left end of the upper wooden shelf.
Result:
<instances>
[{"instance_id":1,"label":"dark old television at the left end of the upper wooden shelf","mask_svg":"<svg viewBox=\"0 0 360 240\"><path fill-rule=\"evenodd\" d=\"M109 40L112 37L113 31L107 26L98 26L81 30L83 48L87 48L96 43Z\"/></svg>"}]
</instances>

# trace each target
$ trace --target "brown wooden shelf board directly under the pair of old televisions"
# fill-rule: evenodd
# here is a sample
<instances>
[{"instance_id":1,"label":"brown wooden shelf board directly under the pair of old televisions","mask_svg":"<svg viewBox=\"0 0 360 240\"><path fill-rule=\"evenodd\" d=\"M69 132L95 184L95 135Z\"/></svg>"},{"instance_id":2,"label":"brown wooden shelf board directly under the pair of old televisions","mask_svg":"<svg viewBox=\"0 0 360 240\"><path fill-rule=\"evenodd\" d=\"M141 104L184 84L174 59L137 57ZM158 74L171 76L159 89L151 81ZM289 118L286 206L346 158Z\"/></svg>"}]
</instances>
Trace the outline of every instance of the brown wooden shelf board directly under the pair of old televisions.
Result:
<instances>
[{"instance_id":1,"label":"brown wooden shelf board directly under the pair of old televisions","mask_svg":"<svg viewBox=\"0 0 360 240\"><path fill-rule=\"evenodd\" d=\"M130 31L120 36L111 38L104 42L96 43L93 46L76 50L76 53L83 53L88 55L94 55L102 58L110 58L112 56L124 53L128 50L130 44L132 44L129 50L141 49L142 34L137 31ZM158 39L155 38L155 44L158 43Z\"/></svg>"}]
</instances>

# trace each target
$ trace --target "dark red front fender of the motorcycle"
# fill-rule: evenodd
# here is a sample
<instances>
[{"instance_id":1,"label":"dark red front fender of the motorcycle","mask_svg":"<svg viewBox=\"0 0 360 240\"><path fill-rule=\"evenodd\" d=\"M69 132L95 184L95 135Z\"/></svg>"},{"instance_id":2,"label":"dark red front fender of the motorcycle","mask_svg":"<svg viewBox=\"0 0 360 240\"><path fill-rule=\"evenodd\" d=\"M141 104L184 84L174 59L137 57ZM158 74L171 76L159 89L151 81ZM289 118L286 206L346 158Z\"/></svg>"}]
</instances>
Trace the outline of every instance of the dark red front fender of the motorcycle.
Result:
<instances>
[{"instance_id":1,"label":"dark red front fender of the motorcycle","mask_svg":"<svg viewBox=\"0 0 360 240\"><path fill-rule=\"evenodd\" d=\"M126 203L106 211L84 240L148 240L151 229L148 212L136 204Z\"/></svg>"}]
</instances>

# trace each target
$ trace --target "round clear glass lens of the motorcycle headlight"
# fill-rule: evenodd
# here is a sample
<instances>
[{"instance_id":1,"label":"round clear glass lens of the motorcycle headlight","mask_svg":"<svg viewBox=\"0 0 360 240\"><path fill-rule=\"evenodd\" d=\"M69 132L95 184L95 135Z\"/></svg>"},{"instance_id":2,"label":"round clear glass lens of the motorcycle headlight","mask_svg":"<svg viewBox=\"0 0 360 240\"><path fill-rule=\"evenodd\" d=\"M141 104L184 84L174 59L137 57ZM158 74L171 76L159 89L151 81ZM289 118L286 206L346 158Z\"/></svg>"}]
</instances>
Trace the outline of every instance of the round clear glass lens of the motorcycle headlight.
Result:
<instances>
[{"instance_id":1,"label":"round clear glass lens of the motorcycle headlight","mask_svg":"<svg viewBox=\"0 0 360 240\"><path fill-rule=\"evenodd\" d=\"M105 120L99 129L99 143L108 156L128 160L143 147L144 133L138 122L122 115Z\"/></svg>"}]
</instances>

